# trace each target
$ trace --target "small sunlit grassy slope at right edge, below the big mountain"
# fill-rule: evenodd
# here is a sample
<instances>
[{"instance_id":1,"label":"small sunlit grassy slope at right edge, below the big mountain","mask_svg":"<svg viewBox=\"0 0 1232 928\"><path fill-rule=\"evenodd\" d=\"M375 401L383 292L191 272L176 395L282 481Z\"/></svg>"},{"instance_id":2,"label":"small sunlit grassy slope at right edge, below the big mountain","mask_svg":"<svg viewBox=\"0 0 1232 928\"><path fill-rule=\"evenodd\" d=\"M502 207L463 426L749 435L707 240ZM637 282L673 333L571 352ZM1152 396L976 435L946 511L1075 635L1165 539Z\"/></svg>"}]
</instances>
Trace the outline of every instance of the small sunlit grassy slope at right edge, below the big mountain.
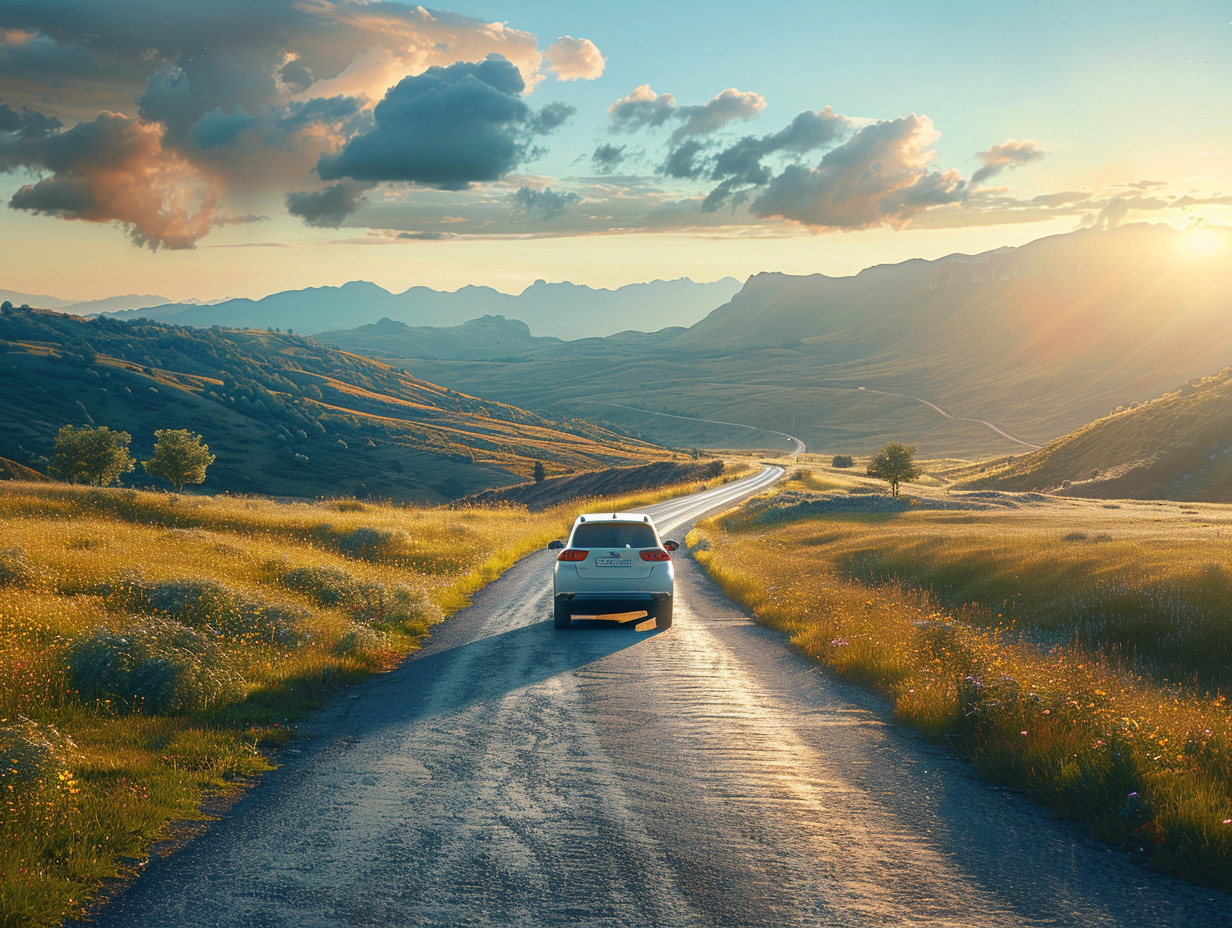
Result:
<instances>
[{"instance_id":1,"label":"small sunlit grassy slope at right edge, below the big mountain","mask_svg":"<svg viewBox=\"0 0 1232 928\"><path fill-rule=\"evenodd\" d=\"M960 486L1232 502L1232 367L1119 409Z\"/></svg>"}]
</instances>

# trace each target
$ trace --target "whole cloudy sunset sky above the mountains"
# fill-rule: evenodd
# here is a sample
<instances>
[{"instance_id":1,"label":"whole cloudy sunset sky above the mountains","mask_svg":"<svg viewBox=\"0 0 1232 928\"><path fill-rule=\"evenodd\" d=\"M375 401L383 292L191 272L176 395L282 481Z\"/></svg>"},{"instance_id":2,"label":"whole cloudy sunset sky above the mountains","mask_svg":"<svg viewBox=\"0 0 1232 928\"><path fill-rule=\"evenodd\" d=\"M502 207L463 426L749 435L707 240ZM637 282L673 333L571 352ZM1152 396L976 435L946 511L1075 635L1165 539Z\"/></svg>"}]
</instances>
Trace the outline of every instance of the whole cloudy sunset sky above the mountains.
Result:
<instances>
[{"instance_id":1,"label":"whole cloudy sunset sky above the mountains","mask_svg":"<svg viewBox=\"0 0 1232 928\"><path fill-rule=\"evenodd\" d=\"M0 0L25 293L845 275L1230 175L1227 0Z\"/></svg>"}]
</instances>

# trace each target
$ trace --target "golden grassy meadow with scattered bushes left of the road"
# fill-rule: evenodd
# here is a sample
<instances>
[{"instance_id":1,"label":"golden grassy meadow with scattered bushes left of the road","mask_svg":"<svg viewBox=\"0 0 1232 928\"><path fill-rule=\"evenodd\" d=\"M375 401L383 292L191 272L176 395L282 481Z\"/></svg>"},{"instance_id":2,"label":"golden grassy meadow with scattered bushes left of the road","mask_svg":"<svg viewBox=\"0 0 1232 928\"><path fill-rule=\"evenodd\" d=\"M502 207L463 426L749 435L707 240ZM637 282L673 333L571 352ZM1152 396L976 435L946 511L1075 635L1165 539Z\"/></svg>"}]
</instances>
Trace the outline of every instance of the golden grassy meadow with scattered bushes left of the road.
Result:
<instances>
[{"instance_id":1,"label":"golden grassy meadow with scattered bushes left of the road","mask_svg":"<svg viewBox=\"0 0 1232 928\"><path fill-rule=\"evenodd\" d=\"M0 483L0 926L80 917L267 770L297 716L393 667L586 505Z\"/></svg>"}]
</instances>

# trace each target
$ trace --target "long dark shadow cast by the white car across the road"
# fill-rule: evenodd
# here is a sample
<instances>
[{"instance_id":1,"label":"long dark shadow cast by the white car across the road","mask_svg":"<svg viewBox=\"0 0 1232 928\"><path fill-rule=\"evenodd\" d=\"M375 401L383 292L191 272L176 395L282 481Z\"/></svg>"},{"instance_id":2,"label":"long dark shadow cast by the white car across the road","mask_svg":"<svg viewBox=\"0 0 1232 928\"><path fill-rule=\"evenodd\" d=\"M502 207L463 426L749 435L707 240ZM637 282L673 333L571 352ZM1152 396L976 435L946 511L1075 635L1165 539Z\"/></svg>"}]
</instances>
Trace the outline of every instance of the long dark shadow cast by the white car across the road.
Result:
<instances>
[{"instance_id":1,"label":"long dark shadow cast by the white car across the road","mask_svg":"<svg viewBox=\"0 0 1232 928\"><path fill-rule=\"evenodd\" d=\"M620 651L652 645L662 633L647 617L578 617L568 630L546 620L455 647L430 646L367 684L384 706L397 706L395 717L378 711L373 721L397 723L499 700Z\"/></svg>"}]
</instances>

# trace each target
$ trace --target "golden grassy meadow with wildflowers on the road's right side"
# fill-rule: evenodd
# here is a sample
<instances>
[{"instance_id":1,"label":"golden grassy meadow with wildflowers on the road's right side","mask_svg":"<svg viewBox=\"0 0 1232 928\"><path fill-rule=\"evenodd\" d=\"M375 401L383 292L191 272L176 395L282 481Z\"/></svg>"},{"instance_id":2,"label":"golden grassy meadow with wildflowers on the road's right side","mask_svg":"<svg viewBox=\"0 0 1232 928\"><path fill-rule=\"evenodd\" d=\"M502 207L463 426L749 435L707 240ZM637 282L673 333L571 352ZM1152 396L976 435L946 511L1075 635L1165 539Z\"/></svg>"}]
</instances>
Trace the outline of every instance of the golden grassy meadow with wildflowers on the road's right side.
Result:
<instances>
[{"instance_id":1,"label":"golden grassy meadow with wildflowers on the road's right side","mask_svg":"<svg viewBox=\"0 0 1232 928\"><path fill-rule=\"evenodd\" d=\"M737 601L904 725L1169 873L1232 889L1232 509L814 467L690 535Z\"/></svg>"}]
</instances>

